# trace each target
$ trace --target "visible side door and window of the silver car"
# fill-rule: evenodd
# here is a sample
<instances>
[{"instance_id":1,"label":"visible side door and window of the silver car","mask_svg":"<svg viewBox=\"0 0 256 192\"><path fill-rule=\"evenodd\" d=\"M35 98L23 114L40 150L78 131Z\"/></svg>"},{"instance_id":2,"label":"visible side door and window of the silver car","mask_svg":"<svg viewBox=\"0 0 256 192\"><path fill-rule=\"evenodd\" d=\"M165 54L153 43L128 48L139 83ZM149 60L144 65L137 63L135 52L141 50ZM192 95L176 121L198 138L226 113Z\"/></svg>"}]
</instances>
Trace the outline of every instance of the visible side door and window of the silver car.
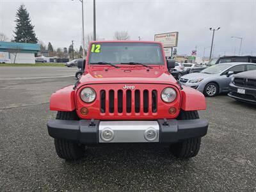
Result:
<instances>
[{"instance_id":1,"label":"visible side door and window of the silver car","mask_svg":"<svg viewBox=\"0 0 256 192\"><path fill-rule=\"evenodd\" d=\"M231 78L233 75L228 76L228 72L234 72L234 74L239 74L241 72L246 71L246 65L236 65L234 67L230 67L228 70L226 70L225 72L223 72L221 74L221 92L228 92L229 90L229 84L231 81Z\"/></svg>"}]
</instances>

